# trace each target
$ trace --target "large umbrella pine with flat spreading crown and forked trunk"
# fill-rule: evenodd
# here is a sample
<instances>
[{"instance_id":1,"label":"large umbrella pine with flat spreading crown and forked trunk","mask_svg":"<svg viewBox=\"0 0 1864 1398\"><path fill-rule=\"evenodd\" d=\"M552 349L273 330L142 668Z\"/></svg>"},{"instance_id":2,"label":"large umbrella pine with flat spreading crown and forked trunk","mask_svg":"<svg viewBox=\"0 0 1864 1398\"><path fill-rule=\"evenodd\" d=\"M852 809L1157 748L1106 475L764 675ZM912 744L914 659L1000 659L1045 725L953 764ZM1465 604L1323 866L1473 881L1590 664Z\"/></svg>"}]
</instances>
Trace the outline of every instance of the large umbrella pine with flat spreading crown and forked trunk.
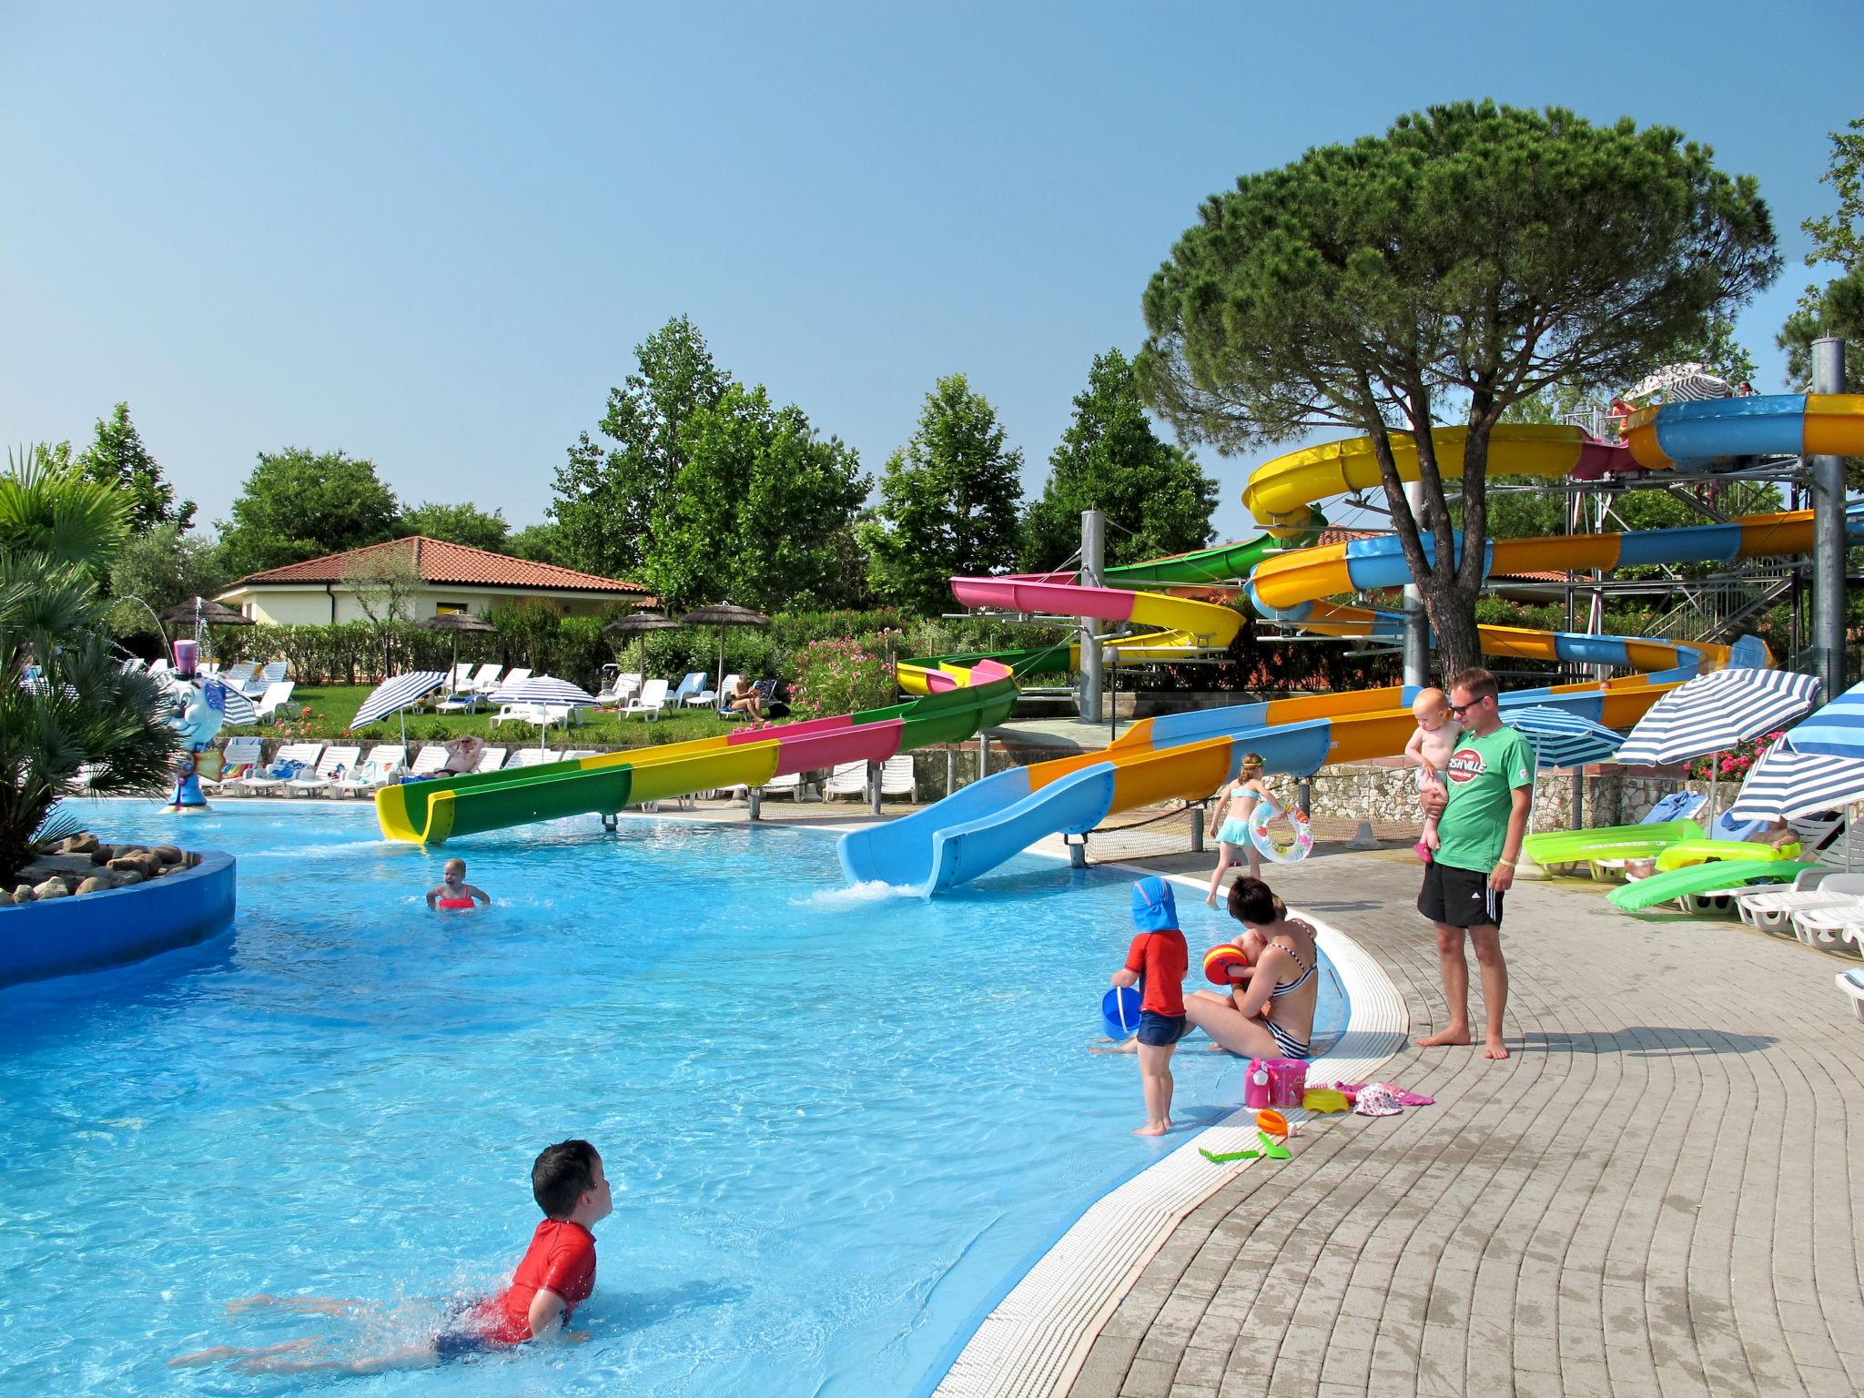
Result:
<instances>
[{"instance_id":1,"label":"large umbrella pine with flat spreading crown and forked trunk","mask_svg":"<svg viewBox=\"0 0 1864 1398\"><path fill-rule=\"evenodd\" d=\"M1225 451L1368 436L1458 669L1478 656L1482 552L1458 559L1430 431L1467 427L1463 511L1484 537L1489 432L1512 404L1568 378L1625 382L1778 267L1754 181L1668 127L1433 106L1206 199L1146 287L1141 369L1180 434ZM1400 436L1417 442L1422 518Z\"/></svg>"}]
</instances>

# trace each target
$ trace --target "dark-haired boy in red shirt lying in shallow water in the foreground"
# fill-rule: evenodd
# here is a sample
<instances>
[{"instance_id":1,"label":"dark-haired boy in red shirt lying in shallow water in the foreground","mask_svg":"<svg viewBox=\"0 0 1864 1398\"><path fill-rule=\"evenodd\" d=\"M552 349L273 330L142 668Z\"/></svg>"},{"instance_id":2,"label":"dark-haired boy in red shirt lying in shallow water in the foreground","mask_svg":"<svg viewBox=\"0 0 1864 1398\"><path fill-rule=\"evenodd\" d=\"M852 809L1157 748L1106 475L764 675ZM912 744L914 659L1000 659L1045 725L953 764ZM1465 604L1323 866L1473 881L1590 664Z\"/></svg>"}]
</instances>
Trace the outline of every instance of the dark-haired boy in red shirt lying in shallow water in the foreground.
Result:
<instances>
[{"instance_id":1,"label":"dark-haired boy in red shirt lying in shallow water in the foreground","mask_svg":"<svg viewBox=\"0 0 1864 1398\"><path fill-rule=\"evenodd\" d=\"M544 1146L531 1165L531 1195L544 1221L531 1234L531 1245L518 1262L511 1284L496 1295L455 1307L440 1335L382 1355L339 1357L326 1338L287 1340L263 1350L218 1346L170 1359L175 1364L212 1364L231 1359L242 1374L384 1374L399 1368L429 1368L457 1355L483 1350L511 1350L526 1340L587 1340L587 1331L570 1331L576 1307L595 1290L595 1234L589 1228L610 1215L615 1200L602 1156L587 1141L559 1141ZM356 1318L367 1309L360 1301L322 1295L252 1295L233 1301L227 1310L300 1310L319 1316Z\"/></svg>"}]
</instances>

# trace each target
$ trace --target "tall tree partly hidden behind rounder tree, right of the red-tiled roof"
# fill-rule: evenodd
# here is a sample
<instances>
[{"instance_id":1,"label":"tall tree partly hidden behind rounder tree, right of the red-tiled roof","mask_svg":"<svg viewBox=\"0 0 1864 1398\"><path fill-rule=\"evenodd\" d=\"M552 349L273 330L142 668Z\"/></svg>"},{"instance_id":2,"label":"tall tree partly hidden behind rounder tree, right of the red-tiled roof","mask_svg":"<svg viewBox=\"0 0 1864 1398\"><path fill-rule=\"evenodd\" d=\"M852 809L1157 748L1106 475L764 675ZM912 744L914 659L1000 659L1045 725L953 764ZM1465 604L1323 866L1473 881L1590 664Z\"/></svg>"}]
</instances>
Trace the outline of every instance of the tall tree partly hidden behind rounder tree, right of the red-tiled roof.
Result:
<instances>
[{"instance_id":1,"label":"tall tree partly hidden behind rounder tree, right of the red-tiled roof","mask_svg":"<svg viewBox=\"0 0 1864 1398\"><path fill-rule=\"evenodd\" d=\"M550 505L576 567L608 578L639 570L688 460L686 423L727 388L705 336L684 315L636 345L634 358L639 369L610 390L598 429L613 445L578 436L557 468Z\"/></svg>"}]
</instances>

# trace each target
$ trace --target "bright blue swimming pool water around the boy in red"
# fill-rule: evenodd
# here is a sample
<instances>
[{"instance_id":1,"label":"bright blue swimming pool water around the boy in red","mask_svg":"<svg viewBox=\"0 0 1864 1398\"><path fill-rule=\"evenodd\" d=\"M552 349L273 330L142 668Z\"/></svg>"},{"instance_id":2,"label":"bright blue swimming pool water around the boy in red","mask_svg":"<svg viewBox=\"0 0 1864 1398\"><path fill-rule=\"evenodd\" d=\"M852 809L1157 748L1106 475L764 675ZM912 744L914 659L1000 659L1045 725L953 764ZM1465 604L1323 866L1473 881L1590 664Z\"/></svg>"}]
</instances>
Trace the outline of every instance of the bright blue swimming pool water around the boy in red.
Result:
<instances>
[{"instance_id":1,"label":"bright blue swimming pool water around the boy in red","mask_svg":"<svg viewBox=\"0 0 1864 1398\"><path fill-rule=\"evenodd\" d=\"M173 839L108 803L106 839ZM0 992L0 1389L272 1394L904 1394L1102 1193L1158 1159L1096 1057L1130 880L1025 857L938 902L844 889L820 831L569 820L447 846L369 809L181 826L240 859L231 936ZM1228 934L1182 906L1193 951ZM1344 1005L1323 992L1322 1025ZM1180 1118L1240 1064L1178 1053ZM170 1370L330 1335L363 1353L498 1286L529 1163L602 1150L583 1346L373 1377ZM255 1292L363 1323L229 1316Z\"/></svg>"}]
</instances>

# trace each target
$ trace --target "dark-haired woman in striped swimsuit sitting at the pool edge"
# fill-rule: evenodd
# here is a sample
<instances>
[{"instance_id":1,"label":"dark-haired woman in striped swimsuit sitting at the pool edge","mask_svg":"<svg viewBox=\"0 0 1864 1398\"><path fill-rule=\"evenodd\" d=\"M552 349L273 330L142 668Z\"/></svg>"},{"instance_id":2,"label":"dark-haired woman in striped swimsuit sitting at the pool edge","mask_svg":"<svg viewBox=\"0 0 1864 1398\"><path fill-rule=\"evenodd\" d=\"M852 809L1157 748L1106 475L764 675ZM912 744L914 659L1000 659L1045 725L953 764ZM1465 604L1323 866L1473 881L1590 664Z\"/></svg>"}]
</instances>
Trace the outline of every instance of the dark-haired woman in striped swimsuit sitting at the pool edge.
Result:
<instances>
[{"instance_id":1,"label":"dark-haired woman in striped swimsuit sitting at the pool edge","mask_svg":"<svg viewBox=\"0 0 1864 1398\"><path fill-rule=\"evenodd\" d=\"M1219 1048L1245 1059L1310 1059L1314 1005L1320 1001L1314 928L1260 878L1230 884L1230 917L1245 928L1247 980L1227 994L1197 990L1184 997L1186 1018ZM1243 977L1238 977L1240 980Z\"/></svg>"}]
</instances>

